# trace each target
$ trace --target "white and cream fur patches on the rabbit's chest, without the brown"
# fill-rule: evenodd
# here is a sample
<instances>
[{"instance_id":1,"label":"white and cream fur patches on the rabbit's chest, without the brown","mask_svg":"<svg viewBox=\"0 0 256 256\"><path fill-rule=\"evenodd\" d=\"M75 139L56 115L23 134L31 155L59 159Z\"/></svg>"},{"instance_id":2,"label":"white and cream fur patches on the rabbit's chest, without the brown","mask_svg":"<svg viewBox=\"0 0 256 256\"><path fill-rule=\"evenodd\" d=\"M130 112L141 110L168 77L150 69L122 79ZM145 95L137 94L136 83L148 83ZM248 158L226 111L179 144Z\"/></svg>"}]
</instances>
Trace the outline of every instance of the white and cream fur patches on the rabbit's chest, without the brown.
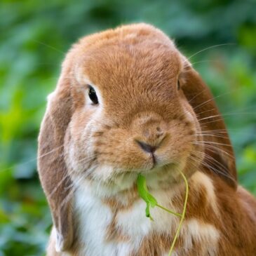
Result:
<instances>
[{"instance_id":1,"label":"white and cream fur patches on the rabbit's chest, without the brown","mask_svg":"<svg viewBox=\"0 0 256 256\"><path fill-rule=\"evenodd\" d=\"M107 172L107 166L104 169ZM191 177L191 180L196 185L200 184L206 187L209 200L214 204L215 193L210 178L202 173L196 173ZM117 211L116 216L114 216L112 209L107 204L102 203L102 199L106 198L106 196L111 198L113 194L126 189L131 182L132 180L127 180L127 184L126 182L121 182L122 186L113 187L112 191L100 182L87 182L84 180L76 184L79 189L76 189L75 192L74 214L76 227L79 227L77 230L79 248L82 248L79 256L128 256L131 252L136 252L140 248L142 240L149 234L168 235L170 232L177 230L180 219L160 208L151 209L154 222L145 217L146 205L142 200L135 201L128 210ZM154 194L160 205L177 213L179 212L171 203L171 198L177 193L175 189L170 189L169 191L156 189L151 193ZM120 197L119 199L120 202L126 205L127 198ZM107 230L114 217L116 228L128 238L127 241L107 241ZM203 253L205 255L217 255L217 242L220 234L213 225L190 219L182 225L180 235L184 241L184 248L175 250L173 255L180 256L181 251L191 252L193 250L193 241L204 245L206 251ZM168 255L168 252L166 253L164 255Z\"/></svg>"}]
</instances>

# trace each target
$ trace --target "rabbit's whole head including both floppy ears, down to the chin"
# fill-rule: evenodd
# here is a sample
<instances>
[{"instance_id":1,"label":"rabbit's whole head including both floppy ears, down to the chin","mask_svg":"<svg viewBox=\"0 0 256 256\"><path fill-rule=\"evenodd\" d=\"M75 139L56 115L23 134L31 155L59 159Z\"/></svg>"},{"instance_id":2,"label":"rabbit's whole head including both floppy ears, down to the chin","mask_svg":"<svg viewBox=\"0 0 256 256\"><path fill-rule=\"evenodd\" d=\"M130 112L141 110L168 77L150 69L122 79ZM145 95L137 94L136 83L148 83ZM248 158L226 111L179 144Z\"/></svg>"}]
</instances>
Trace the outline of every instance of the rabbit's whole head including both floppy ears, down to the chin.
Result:
<instances>
[{"instance_id":1,"label":"rabbit's whole head including both floppy ears, down to the chin","mask_svg":"<svg viewBox=\"0 0 256 256\"><path fill-rule=\"evenodd\" d=\"M171 186L195 170L236 188L229 136L213 96L173 41L151 25L76 43L48 98L39 175L59 250L72 244L72 185L129 189L138 173Z\"/></svg>"}]
</instances>

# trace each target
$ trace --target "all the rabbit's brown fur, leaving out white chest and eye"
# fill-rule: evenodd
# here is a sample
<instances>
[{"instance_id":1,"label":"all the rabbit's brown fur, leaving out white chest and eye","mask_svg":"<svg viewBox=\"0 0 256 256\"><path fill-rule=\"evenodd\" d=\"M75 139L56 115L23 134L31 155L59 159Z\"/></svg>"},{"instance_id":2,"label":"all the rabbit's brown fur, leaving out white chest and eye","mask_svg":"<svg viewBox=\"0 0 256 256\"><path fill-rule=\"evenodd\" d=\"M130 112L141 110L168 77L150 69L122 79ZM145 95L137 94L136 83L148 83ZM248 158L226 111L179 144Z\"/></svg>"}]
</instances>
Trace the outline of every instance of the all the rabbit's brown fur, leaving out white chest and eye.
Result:
<instances>
[{"instance_id":1,"label":"all the rabbit's brown fur, leaving out white chest and eye","mask_svg":"<svg viewBox=\"0 0 256 256\"><path fill-rule=\"evenodd\" d=\"M86 84L78 74L99 86L104 100L105 119L90 127L95 110L83 111ZM177 79L181 83L178 91ZM93 130L96 126L97 130ZM81 133L83 130L86 134ZM90 140L94 140L93 150L90 161L85 161L88 154L81 149ZM130 172L149 169L151 162L138 149L137 140L159 147L159 154L166 159L190 157L183 168L190 177L189 201L184 230L175 245L179 255L209 253L203 241L193 240L193 250L184 249L186 223L194 219L201 225L211 224L220 232L217 255L256 255L256 201L237 187L234 152L213 96L172 41L144 24L86 36L72 47L62 65L39 135L39 176L58 233L58 241L54 233L50 237L48 255L64 255L55 251L56 244L71 255L79 255L81 249L72 213L72 181L79 172L74 170L72 161L84 170L97 163L114 164L117 170ZM194 140L198 143L193 144ZM70 158L72 147L76 154ZM159 171L159 184L166 193L170 187L177 188L172 203L181 212L184 186L177 173L168 176L169 169L170 166ZM196 170L210 177L215 201L209 197L208 187L193 178ZM95 175L89 173L88 180L94 180ZM121 175L126 174L116 173L103 183L114 186ZM138 200L135 186L123 191L122 196L126 203L114 196L102 200L114 216ZM174 232L149 234L133 255L161 255L170 248L173 236ZM113 239L128 239L116 228L115 217L106 234L106 241Z\"/></svg>"}]
</instances>

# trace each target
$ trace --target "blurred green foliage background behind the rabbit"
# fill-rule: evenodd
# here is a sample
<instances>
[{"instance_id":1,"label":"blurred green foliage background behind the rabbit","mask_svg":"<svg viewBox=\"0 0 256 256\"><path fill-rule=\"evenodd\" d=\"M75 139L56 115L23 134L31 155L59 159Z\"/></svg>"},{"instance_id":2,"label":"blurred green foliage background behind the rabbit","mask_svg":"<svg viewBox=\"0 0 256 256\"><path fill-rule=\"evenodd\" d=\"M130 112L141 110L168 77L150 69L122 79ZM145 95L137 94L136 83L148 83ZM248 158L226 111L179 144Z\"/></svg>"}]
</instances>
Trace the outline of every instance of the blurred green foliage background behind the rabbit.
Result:
<instances>
[{"instance_id":1,"label":"blurred green foliage background behind the rabbit","mask_svg":"<svg viewBox=\"0 0 256 256\"><path fill-rule=\"evenodd\" d=\"M239 181L256 195L255 13L255 1L1 0L0 256L44 255L51 219L36 138L46 95L74 41L120 24L149 22L197 53L190 60L224 115Z\"/></svg>"}]
</instances>

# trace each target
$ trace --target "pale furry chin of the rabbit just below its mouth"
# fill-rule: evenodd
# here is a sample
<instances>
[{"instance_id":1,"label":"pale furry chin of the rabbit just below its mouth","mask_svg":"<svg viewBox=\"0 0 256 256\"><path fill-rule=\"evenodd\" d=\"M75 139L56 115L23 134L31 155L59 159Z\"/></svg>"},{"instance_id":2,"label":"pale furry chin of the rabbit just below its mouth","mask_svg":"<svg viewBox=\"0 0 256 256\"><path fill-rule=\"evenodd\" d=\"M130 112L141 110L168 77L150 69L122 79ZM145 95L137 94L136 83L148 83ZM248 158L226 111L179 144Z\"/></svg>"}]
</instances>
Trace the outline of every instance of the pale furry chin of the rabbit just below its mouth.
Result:
<instances>
[{"instance_id":1,"label":"pale furry chin of the rabbit just below its mouth","mask_svg":"<svg viewBox=\"0 0 256 256\"><path fill-rule=\"evenodd\" d=\"M169 163L156 166L147 170L122 170L113 166L101 165L93 169L86 177L77 176L74 183L77 187L90 186L92 191L100 197L118 196L133 190L136 185L137 175L141 173L147 179L149 189L175 188L182 180L179 170L184 170L186 162L179 165Z\"/></svg>"}]
</instances>

